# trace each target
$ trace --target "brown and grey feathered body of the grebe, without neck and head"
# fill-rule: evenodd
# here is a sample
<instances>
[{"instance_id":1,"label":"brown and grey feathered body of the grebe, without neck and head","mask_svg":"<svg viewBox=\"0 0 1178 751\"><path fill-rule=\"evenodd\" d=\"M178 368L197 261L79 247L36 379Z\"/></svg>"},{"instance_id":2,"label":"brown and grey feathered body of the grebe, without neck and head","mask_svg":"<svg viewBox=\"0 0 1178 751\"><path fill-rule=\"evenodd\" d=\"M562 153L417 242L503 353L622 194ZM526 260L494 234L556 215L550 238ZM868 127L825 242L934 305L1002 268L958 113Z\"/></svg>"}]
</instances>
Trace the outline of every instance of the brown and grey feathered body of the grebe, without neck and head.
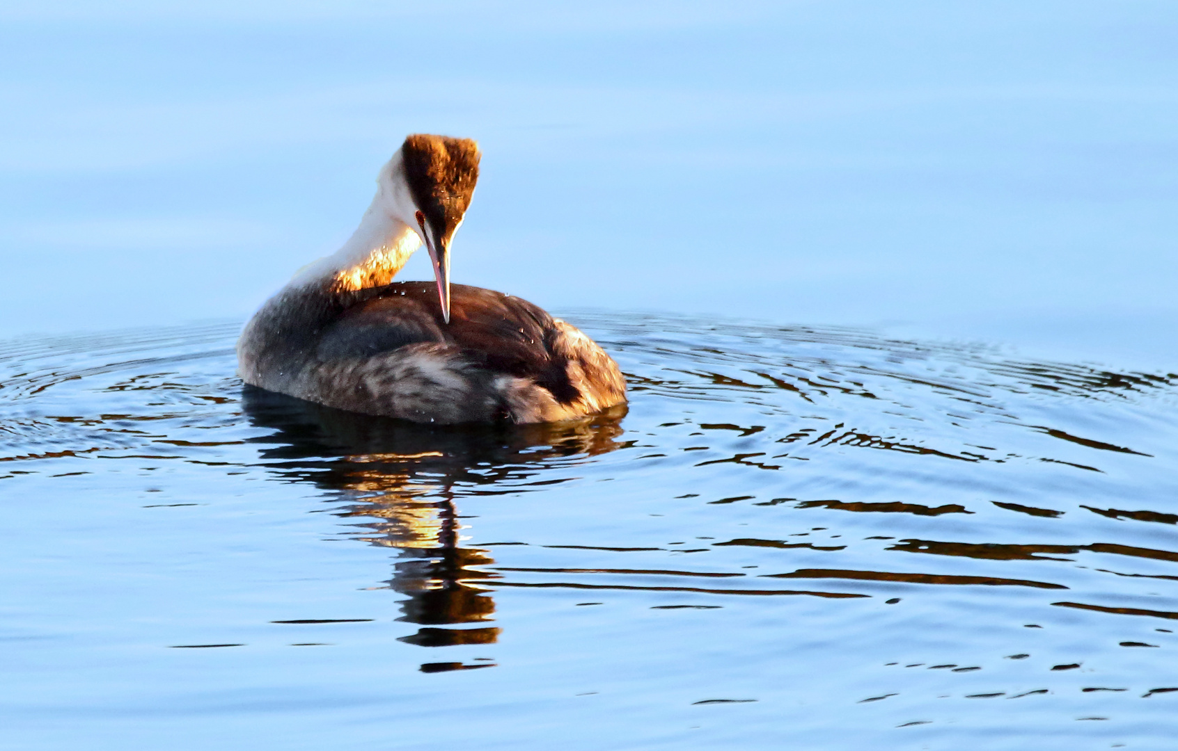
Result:
<instances>
[{"instance_id":1,"label":"brown and grey feathered body of the grebe, without neck and head","mask_svg":"<svg viewBox=\"0 0 1178 751\"><path fill-rule=\"evenodd\" d=\"M302 319L302 320L299 320ZM243 378L330 406L416 421L541 423L626 401L617 365L575 327L499 292L432 284L267 304L238 347Z\"/></svg>"}]
</instances>

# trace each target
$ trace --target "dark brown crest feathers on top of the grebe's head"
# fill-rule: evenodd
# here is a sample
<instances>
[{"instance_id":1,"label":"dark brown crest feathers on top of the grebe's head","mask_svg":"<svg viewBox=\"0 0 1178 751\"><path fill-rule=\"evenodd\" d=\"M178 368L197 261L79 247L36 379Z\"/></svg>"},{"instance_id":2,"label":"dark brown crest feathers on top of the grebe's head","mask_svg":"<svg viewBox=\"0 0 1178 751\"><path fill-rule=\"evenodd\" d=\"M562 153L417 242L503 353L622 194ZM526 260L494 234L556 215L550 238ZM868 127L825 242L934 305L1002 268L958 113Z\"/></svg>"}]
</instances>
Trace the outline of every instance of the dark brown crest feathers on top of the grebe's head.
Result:
<instances>
[{"instance_id":1,"label":"dark brown crest feathers on top of the grebe's head","mask_svg":"<svg viewBox=\"0 0 1178 751\"><path fill-rule=\"evenodd\" d=\"M401 147L405 181L435 235L449 242L478 181L478 144L469 138L416 133Z\"/></svg>"}]
</instances>

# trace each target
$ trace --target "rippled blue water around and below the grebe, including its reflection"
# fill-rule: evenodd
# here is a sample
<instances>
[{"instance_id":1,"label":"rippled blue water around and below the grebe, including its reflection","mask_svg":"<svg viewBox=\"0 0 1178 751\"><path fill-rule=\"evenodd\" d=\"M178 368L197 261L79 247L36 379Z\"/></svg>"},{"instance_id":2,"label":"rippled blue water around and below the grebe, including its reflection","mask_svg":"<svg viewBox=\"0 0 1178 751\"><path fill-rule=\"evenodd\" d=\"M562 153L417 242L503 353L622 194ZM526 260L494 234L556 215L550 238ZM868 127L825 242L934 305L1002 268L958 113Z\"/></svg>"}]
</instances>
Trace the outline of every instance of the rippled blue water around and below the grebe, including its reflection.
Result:
<instances>
[{"instance_id":1,"label":"rippled blue water around and below the grebe, including its reflection","mask_svg":"<svg viewBox=\"0 0 1178 751\"><path fill-rule=\"evenodd\" d=\"M1178 374L580 314L628 414L426 428L237 324L0 348L0 747L1170 747Z\"/></svg>"}]
</instances>

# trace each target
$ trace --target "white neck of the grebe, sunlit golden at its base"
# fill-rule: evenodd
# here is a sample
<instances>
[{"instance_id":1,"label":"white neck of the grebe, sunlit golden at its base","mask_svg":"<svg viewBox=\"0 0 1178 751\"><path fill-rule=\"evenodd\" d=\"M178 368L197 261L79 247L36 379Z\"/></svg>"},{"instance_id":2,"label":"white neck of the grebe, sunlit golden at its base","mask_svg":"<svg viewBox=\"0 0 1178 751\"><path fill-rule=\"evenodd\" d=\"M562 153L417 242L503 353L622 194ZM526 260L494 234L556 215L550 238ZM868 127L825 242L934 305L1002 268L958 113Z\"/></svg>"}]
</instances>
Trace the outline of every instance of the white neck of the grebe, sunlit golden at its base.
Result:
<instances>
[{"instance_id":1,"label":"white neck of the grebe, sunlit golden at its base","mask_svg":"<svg viewBox=\"0 0 1178 751\"><path fill-rule=\"evenodd\" d=\"M327 286L336 292L355 292L386 285L421 246L417 231L390 217L378 192L344 246L300 268L287 287Z\"/></svg>"}]
</instances>

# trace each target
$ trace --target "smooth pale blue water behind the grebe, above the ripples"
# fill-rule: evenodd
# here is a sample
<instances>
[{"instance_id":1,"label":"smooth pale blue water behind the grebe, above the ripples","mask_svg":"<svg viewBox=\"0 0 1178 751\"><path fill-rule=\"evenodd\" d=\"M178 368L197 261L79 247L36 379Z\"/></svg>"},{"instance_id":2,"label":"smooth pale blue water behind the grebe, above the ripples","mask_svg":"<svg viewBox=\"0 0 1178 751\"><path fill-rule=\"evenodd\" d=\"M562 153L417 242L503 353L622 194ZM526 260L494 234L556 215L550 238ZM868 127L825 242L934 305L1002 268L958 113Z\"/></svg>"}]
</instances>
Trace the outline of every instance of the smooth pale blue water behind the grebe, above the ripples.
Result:
<instances>
[{"instance_id":1,"label":"smooth pale blue water behind the grebe, above the ripples","mask_svg":"<svg viewBox=\"0 0 1178 751\"><path fill-rule=\"evenodd\" d=\"M483 147L463 284L1172 368L1176 35L1162 0L9 0L0 333L245 318L424 131Z\"/></svg>"}]
</instances>

